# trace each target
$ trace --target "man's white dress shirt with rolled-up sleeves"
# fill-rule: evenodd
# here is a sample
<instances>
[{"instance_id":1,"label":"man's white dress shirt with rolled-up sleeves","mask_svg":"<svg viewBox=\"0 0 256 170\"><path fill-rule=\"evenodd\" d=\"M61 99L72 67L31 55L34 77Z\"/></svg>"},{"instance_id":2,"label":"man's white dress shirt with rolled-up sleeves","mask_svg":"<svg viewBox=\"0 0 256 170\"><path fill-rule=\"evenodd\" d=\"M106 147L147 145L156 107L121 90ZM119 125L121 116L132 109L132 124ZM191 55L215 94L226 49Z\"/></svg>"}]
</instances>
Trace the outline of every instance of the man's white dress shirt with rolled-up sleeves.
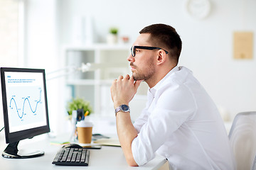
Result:
<instances>
[{"instance_id":1,"label":"man's white dress shirt with rolled-up sleeves","mask_svg":"<svg viewBox=\"0 0 256 170\"><path fill-rule=\"evenodd\" d=\"M171 169L235 169L223 120L192 72L174 67L149 89L146 108L134 123L138 165L166 157Z\"/></svg>"}]
</instances>

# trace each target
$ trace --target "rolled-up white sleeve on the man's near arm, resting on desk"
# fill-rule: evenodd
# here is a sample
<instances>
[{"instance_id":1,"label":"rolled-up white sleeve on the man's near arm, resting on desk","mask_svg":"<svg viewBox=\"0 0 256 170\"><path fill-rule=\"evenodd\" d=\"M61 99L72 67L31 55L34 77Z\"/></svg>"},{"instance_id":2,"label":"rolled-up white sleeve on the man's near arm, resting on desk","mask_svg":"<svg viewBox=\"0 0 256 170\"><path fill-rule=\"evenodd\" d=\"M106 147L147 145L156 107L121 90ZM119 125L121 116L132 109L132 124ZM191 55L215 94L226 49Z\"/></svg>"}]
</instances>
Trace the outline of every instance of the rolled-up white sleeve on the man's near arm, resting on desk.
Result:
<instances>
[{"instance_id":1,"label":"rolled-up white sleeve on the man's near arm, resting on desk","mask_svg":"<svg viewBox=\"0 0 256 170\"><path fill-rule=\"evenodd\" d=\"M154 159L156 150L196 111L193 95L184 85L166 86L159 93L148 121L132 141L132 154L139 166Z\"/></svg>"}]
</instances>

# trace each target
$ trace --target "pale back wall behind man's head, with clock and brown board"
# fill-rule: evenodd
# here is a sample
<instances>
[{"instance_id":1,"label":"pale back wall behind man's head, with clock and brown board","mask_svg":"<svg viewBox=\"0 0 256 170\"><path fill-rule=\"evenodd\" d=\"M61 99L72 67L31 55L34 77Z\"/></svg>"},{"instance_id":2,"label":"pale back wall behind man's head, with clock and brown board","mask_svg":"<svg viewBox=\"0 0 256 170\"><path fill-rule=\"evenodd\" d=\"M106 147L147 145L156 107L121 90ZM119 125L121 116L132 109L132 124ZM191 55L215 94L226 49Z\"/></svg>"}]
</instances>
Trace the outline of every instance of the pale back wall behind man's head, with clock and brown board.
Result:
<instances>
[{"instance_id":1,"label":"pale back wall behind man's head, with clock and brown board","mask_svg":"<svg viewBox=\"0 0 256 170\"><path fill-rule=\"evenodd\" d=\"M132 44L144 26L169 24L183 40L179 64L193 70L215 103L232 118L241 111L255 111L256 43L253 60L234 60L233 32L256 33L256 1L210 2L210 16L197 20L186 13L185 0L61 0L60 44L72 41L71 23L75 17L92 17L97 42L105 42L111 26L119 28L119 35L129 35Z\"/></svg>"}]
</instances>

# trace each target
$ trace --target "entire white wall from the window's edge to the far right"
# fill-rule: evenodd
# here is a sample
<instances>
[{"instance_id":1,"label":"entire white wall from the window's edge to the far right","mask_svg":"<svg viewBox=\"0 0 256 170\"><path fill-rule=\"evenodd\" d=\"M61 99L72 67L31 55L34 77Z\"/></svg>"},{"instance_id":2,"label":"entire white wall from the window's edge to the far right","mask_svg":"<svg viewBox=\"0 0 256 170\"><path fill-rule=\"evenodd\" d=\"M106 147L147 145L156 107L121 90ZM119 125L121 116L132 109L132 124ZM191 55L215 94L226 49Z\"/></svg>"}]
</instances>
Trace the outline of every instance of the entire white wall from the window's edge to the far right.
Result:
<instances>
[{"instance_id":1,"label":"entire white wall from the window's edge to the far right","mask_svg":"<svg viewBox=\"0 0 256 170\"><path fill-rule=\"evenodd\" d=\"M255 0L210 0L210 16L197 20L185 11L185 0L27 0L26 67L50 72L63 66L62 45L74 35L73 18L92 18L95 42L105 42L112 26L128 35L130 44L139 30L151 23L176 28L183 40L180 65L191 70L215 103L231 114L256 111L255 45L253 60L233 60L233 31L256 33ZM58 129L63 118L63 80L48 81L51 126ZM58 123L57 123L58 122Z\"/></svg>"}]
</instances>

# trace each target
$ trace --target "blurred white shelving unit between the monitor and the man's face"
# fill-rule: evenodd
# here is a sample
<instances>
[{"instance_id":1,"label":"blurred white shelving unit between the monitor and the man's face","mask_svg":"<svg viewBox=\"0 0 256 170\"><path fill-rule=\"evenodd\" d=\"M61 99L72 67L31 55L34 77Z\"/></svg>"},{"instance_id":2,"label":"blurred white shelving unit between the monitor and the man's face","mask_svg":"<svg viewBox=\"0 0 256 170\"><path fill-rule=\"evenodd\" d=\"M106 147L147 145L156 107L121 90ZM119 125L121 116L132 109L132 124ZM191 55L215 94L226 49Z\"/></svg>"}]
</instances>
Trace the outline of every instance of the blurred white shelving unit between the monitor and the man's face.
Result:
<instances>
[{"instance_id":1,"label":"blurred white shelving unit between the monitor and the man's face","mask_svg":"<svg viewBox=\"0 0 256 170\"><path fill-rule=\"evenodd\" d=\"M65 85L70 98L81 97L90 101L96 114L109 115L114 112L110 86L119 75L129 74L128 45L66 45L63 47L64 64L80 67L83 63L97 63L100 69L75 72L66 77Z\"/></svg>"}]
</instances>

